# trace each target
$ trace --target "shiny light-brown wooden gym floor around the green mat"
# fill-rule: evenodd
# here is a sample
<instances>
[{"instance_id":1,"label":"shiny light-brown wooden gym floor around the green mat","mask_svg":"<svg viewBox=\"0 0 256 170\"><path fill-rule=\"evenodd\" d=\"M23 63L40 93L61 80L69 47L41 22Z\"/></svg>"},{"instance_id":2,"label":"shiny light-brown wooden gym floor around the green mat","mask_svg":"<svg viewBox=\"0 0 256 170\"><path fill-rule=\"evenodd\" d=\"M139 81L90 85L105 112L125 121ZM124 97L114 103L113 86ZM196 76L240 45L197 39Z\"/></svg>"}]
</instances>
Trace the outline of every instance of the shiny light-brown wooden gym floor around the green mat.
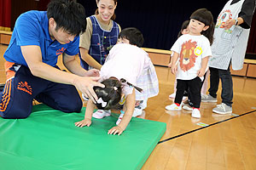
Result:
<instances>
[{"instance_id":1,"label":"shiny light-brown wooden gym floor around the green mat","mask_svg":"<svg viewBox=\"0 0 256 170\"><path fill-rule=\"evenodd\" d=\"M0 83L6 81L3 53L0 45ZM189 111L166 111L172 104L175 77L166 67L155 67L160 82L160 94L148 99L141 118L166 122L166 133L160 139L143 170L234 170L256 169L256 79L233 77L233 114L212 113L216 103L201 103L201 119ZM220 103L218 90L218 104ZM197 123L205 123L202 127Z\"/></svg>"}]
</instances>

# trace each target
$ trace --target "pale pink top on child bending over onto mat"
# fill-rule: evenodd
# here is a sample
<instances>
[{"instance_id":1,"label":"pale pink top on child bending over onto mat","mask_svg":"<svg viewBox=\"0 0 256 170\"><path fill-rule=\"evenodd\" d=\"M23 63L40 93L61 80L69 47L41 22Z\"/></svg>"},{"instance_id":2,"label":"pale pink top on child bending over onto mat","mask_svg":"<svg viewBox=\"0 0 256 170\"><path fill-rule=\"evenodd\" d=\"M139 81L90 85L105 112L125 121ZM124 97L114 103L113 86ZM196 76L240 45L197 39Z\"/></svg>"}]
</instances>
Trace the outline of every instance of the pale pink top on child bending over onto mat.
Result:
<instances>
[{"instance_id":1,"label":"pale pink top on child bending over onto mat","mask_svg":"<svg viewBox=\"0 0 256 170\"><path fill-rule=\"evenodd\" d=\"M125 78L127 82L137 85L137 79L142 75L143 69L148 67L151 60L148 54L137 46L119 43L113 46L108 54L108 58L100 71L102 82L109 77ZM132 93L131 87L126 85L123 88L125 95Z\"/></svg>"}]
</instances>

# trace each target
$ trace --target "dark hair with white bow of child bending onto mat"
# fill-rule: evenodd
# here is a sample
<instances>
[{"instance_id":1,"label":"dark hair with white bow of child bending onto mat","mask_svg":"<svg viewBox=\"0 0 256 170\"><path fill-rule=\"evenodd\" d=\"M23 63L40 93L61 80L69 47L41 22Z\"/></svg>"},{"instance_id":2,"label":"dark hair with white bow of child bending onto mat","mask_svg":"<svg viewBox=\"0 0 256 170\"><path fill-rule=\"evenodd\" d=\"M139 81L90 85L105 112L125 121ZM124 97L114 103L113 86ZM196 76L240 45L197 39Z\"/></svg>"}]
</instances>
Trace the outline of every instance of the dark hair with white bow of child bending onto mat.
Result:
<instances>
[{"instance_id":1,"label":"dark hair with white bow of child bending onto mat","mask_svg":"<svg viewBox=\"0 0 256 170\"><path fill-rule=\"evenodd\" d=\"M122 83L115 77L110 77L102 82L105 88L93 87L98 100L96 107L100 110L117 108L122 96Z\"/></svg>"}]
</instances>

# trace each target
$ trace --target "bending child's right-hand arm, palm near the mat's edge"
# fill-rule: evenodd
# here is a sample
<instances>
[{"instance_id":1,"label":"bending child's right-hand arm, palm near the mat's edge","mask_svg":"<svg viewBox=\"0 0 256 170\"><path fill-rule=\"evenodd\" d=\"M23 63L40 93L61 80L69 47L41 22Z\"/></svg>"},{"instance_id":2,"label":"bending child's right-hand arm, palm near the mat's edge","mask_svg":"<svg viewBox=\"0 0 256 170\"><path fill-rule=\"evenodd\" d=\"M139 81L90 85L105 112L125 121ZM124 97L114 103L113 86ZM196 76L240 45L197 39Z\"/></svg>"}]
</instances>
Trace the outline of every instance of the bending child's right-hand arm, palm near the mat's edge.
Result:
<instances>
[{"instance_id":1,"label":"bending child's right-hand arm, palm near the mat's edge","mask_svg":"<svg viewBox=\"0 0 256 170\"><path fill-rule=\"evenodd\" d=\"M112 127L108 130L108 134L118 134L120 135L123 133L125 128L128 126L129 122L131 121L131 117L134 111L135 106L135 89L133 89L132 94L127 95L125 101L125 114L119 123L118 126Z\"/></svg>"}]
</instances>

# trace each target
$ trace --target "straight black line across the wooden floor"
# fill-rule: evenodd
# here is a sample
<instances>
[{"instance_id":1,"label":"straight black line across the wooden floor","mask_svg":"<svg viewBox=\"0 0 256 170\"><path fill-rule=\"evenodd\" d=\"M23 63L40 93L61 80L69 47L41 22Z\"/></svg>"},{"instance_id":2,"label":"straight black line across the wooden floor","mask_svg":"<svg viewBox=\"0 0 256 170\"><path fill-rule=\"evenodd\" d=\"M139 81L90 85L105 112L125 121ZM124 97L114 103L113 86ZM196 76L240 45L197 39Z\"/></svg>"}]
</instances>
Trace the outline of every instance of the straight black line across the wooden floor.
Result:
<instances>
[{"instance_id":1,"label":"straight black line across the wooden floor","mask_svg":"<svg viewBox=\"0 0 256 170\"><path fill-rule=\"evenodd\" d=\"M214 123L212 123L212 124L209 124L207 127L212 127L213 125L217 125L218 123L227 122L227 121L230 121L231 119L235 119L235 118L240 117L240 116L245 116L245 115L250 114L250 113L253 113L253 112L255 112L255 111L256 111L256 110L254 110L254 111L248 111L247 113L243 113L243 114L241 114L241 115L239 115L239 116L233 116L233 117L230 117L229 119L225 119L225 120L220 121L220 122L214 122ZM173 137L171 137L171 138L161 140L161 141L158 142L158 144L161 144L161 143L163 143L163 142L167 142L167 141L172 140L172 139L177 139L177 138L182 137L182 136L184 136L184 135L186 135L186 134L194 133L194 132L196 132L196 131L199 131L199 130L201 130L201 129L203 129L203 128L207 128L207 127L200 127L200 128L196 128L195 130L191 130L191 131L186 132L186 133L178 134L178 135L173 136Z\"/></svg>"}]
</instances>

